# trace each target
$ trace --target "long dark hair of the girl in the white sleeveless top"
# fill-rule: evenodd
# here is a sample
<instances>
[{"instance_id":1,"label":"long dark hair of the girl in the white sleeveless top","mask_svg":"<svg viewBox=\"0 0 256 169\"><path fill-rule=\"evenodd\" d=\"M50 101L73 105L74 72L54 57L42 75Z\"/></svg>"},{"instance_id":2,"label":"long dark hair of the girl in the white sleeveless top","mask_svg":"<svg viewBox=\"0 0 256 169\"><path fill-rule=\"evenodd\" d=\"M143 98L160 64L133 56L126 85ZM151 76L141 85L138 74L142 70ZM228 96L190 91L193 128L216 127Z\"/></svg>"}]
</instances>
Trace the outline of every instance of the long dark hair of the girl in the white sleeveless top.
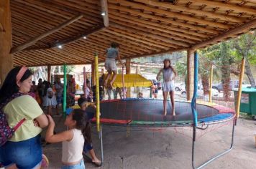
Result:
<instances>
[{"instance_id":1,"label":"long dark hair of the girl in the white sleeveless top","mask_svg":"<svg viewBox=\"0 0 256 169\"><path fill-rule=\"evenodd\" d=\"M91 143L91 123L86 116L86 112L81 109L75 109L72 112L72 120L76 120L76 129L81 130L85 142Z\"/></svg>"}]
</instances>

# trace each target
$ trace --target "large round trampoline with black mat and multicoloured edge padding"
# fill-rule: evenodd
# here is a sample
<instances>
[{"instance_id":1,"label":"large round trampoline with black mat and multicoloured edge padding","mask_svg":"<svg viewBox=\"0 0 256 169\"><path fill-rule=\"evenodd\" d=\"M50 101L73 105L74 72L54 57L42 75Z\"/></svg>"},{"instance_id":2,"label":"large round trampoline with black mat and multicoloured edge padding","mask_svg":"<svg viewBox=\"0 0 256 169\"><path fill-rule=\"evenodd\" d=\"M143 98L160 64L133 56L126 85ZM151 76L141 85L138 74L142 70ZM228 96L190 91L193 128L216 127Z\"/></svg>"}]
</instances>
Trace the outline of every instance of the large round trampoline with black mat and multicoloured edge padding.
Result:
<instances>
[{"instance_id":1,"label":"large round trampoline with black mat and multicoloured edge padding","mask_svg":"<svg viewBox=\"0 0 256 169\"><path fill-rule=\"evenodd\" d=\"M101 102L101 124L130 125L136 127L177 127L193 125L191 102L175 102L176 116L163 116L163 100L106 100ZM196 104L198 125L216 124L232 120L234 110L221 105ZM93 119L95 121L96 119Z\"/></svg>"}]
</instances>

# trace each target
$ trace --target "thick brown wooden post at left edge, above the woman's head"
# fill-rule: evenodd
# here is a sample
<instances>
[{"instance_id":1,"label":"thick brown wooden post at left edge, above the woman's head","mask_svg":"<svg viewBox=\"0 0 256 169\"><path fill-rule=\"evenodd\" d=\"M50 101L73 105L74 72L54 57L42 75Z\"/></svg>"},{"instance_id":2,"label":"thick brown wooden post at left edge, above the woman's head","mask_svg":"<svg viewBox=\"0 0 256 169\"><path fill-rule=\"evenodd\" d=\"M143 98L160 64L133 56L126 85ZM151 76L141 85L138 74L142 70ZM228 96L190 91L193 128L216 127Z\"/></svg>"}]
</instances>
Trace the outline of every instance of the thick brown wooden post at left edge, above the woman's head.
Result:
<instances>
[{"instance_id":1,"label":"thick brown wooden post at left edge, above the woman's head","mask_svg":"<svg viewBox=\"0 0 256 169\"><path fill-rule=\"evenodd\" d=\"M13 58L9 53L12 48L12 24L9 0L0 1L0 85L13 67Z\"/></svg>"}]
</instances>

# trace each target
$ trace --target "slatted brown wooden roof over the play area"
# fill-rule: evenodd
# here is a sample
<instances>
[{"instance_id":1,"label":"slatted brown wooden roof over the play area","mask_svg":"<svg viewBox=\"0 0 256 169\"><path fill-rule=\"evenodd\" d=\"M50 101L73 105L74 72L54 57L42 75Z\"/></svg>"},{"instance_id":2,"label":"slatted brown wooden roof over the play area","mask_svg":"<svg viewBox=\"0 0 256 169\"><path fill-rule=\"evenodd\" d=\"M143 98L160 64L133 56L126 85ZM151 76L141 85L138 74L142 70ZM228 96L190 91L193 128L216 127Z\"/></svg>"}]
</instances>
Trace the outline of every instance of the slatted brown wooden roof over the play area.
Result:
<instances>
[{"instance_id":1,"label":"slatted brown wooden roof over the play area","mask_svg":"<svg viewBox=\"0 0 256 169\"><path fill-rule=\"evenodd\" d=\"M101 1L106 0L12 0L14 66L88 64L95 52L103 62L111 42L120 44L122 58L198 49L256 27L255 0ZM15 52L70 19L72 24Z\"/></svg>"}]
</instances>

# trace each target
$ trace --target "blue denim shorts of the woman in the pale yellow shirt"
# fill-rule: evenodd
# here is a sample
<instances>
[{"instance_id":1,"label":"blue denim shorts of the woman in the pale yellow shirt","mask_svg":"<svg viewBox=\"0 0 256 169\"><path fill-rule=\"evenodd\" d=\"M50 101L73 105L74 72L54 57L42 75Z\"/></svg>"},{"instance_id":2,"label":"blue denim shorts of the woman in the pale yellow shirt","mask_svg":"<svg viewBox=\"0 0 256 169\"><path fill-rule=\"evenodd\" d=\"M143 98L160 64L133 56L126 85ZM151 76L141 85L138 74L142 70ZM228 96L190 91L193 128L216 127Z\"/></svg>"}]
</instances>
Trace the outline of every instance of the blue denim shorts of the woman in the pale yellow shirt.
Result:
<instances>
[{"instance_id":1,"label":"blue denim shorts of the woman in the pale yellow shirt","mask_svg":"<svg viewBox=\"0 0 256 169\"><path fill-rule=\"evenodd\" d=\"M31 169L42 161L40 135L19 142L7 141L0 147L0 163L5 167L16 164L19 169Z\"/></svg>"}]
</instances>

